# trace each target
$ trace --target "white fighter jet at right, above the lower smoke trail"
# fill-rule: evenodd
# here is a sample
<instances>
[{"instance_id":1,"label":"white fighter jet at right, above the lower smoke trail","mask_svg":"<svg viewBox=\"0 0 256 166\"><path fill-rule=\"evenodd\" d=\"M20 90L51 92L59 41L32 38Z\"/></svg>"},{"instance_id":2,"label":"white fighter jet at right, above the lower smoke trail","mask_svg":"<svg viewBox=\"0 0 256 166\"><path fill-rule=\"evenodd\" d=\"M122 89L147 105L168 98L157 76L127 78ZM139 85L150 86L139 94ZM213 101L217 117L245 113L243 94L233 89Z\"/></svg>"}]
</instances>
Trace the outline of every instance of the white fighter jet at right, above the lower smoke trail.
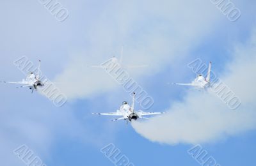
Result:
<instances>
[{"instance_id":1,"label":"white fighter jet at right, above the lower smoke trail","mask_svg":"<svg viewBox=\"0 0 256 166\"><path fill-rule=\"evenodd\" d=\"M197 75L196 79L193 80L191 83L188 83L188 84L173 83L173 84L179 85L179 86L193 86L193 87L196 87L197 89L204 89L205 87L209 87L211 83L210 82L211 65L212 63L210 62L206 78L202 74L199 74Z\"/></svg>"}]
</instances>

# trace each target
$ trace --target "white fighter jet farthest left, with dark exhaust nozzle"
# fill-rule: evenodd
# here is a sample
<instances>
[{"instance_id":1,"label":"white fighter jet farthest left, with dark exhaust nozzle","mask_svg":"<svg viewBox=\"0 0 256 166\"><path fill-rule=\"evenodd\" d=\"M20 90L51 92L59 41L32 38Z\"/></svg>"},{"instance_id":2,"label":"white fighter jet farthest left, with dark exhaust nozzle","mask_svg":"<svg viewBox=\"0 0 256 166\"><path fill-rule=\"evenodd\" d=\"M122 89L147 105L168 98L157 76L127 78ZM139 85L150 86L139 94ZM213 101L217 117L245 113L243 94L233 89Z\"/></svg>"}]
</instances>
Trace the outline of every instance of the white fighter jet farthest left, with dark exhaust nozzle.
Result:
<instances>
[{"instance_id":1,"label":"white fighter jet farthest left, with dark exhaust nozzle","mask_svg":"<svg viewBox=\"0 0 256 166\"><path fill-rule=\"evenodd\" d=\"M18 81L18 82L2 81L2 82L10 83L10 84L22 84L22 86L19 86L17 88L29 87L29 89L31 89L32 93L33 93L34 90L37 90L37 87L44 86L43 82L39 78L40 63L41 63L41 61L39 60L38 68L37 68L37 72L38 72L37 75L34 72L29 72L29 74L27 75L26 79L23 79L22 81Z\"/></svg>"}]
</instances>

